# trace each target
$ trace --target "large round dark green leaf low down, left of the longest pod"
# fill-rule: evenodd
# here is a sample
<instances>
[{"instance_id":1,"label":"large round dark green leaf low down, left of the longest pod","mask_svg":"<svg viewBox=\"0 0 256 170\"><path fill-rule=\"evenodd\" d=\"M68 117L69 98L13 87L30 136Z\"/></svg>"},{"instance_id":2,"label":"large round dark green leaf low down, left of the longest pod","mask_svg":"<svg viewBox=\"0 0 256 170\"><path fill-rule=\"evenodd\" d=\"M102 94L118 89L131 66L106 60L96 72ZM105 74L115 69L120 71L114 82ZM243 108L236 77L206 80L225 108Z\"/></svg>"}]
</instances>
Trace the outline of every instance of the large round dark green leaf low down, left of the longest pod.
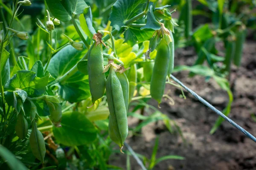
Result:
<instances>
[{"instance_id":1,"label":"large round dark green leaf low down, left of the longest pod","mask_svg":"<svg viewBox=\"0 0 256 170\"><path fill-rule=\"evenodd\" d=\"M62 114L61 127L53 127L57 142L65 146L79 146L92 143L97 137L97 130L84 114L65 112Z\"/></svg>"}]
</instances>

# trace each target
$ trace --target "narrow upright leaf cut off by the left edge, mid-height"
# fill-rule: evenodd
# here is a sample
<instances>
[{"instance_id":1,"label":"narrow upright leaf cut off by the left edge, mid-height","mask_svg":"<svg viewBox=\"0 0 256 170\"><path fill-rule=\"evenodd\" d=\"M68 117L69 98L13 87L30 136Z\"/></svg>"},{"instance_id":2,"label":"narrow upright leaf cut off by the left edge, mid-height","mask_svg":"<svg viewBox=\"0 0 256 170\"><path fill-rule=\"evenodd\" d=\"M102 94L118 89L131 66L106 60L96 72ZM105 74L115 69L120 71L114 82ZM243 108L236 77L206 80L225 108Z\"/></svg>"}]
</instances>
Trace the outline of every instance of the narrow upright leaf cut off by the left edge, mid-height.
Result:
<instances>
[{"instance_id":1,"label":"narrow upright leaf cut off by the left edge, mid-height","mask_svg":"<svg viewBox=\"0 0 256 170\"><path fill-rule=\"evenodd\" d=\"M10 64L9 64L9 52L3 49L1 57L1 72L2 72L2 84L5 85L10 79Z\"/></svg>"}]
</instances>

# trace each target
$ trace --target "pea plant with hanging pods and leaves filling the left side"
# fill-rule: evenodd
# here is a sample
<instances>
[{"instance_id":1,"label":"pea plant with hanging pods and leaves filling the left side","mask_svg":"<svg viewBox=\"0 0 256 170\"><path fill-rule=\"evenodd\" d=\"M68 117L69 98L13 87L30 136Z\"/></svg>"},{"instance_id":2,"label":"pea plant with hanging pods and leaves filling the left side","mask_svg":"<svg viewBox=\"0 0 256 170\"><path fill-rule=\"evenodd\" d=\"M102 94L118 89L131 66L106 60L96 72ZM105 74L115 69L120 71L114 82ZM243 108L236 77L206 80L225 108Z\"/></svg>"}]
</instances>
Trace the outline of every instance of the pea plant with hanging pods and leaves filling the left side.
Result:
<instances>
[{"instance_id":1,"label":"pea plant with hanging pods and leaves filling the left side","mask_svg":"<svg viewBox=\"0 0 256 170\"><path fill-rule=\"evenodd\" d=\"M174 104L164 94L166 84L180 88L186 99L186 86L172 72L198 74L205 69L204 76L230 92L227 79L209 68L174 68L180 41L175 35L180 34L175 31L179 22L172 18L175 9L157 0L45 0L43 17L32 20L21 11L32 3L14 0L8 6L0 0L0 167L120 169L108 164L113 153L134 156L142 169L184 159L156 159L157 138L151 159L139 156L142 163L125 142L129 134L160 120L170 132L175 127L182 135L175 121L147 104L151 98L158 107L163 98ZM184 8L191 8L190 3ZM184 37L190 39L192 21L183 20ZM145 116L138 110L154 113ZM127 116L137 117L139 124L128 128Z\"/></svg>"}]
</instances>

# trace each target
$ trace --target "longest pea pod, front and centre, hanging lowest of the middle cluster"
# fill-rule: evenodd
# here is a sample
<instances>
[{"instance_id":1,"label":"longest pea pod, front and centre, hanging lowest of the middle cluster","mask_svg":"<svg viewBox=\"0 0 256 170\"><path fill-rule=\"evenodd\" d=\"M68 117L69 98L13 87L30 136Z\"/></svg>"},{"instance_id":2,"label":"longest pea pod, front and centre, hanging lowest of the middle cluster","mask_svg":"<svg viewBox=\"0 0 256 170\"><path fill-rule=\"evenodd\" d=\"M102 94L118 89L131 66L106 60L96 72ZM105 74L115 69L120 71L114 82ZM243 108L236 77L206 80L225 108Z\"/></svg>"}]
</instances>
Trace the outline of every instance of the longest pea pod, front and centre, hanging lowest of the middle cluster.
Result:
<instances>
[{"instance_id":1,"label":"longest pea pod, front and centre, hanging lowest of the middle cluster","mask_svg":"<svg viewBox=\"0 0 256 170\"><path fill-rule=\"evenodd\" d=\"M128 123L122 86L112 65L106 82L106 94L110 112L108 133L110 139L119 145L122 152L124 141L128 135Z\"/></svg>"}]
</instances>

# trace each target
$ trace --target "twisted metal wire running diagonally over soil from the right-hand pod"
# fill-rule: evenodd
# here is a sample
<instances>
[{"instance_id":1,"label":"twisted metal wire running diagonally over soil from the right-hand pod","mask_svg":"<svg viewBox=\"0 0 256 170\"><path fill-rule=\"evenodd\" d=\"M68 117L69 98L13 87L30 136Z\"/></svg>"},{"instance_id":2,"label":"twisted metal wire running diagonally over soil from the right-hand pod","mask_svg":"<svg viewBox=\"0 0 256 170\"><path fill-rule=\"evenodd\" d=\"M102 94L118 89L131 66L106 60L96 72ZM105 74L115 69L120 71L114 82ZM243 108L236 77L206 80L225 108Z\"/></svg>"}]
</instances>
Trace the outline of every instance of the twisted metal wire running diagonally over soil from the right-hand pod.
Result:
<instances>
[{"instance_id":1,"label":"twisted metal wire running diagonally over soil from the right-hand pod","mask_svg":"<svg viewBox=\"0 0 256 170\"><path fill-rule=\"evenodd\" d=\"M234 127L236 127L238 130L240 130L242 133L244 133L245 136L247 136L248 138L252 139L254 142L256 142L256 138L250 134L249 132L247 132L244 128L242 128L241 126L237 125L233 120L231 120L230 118L228 118L227 116L225 116L223 113L221 113L221 111L219 111L218 109L216 109L215 107L213 107L211 104L209 104L209 102L207 102L205 99L203 99L202 97L198 96L198 94L196 94L194 91L192 91L191 89L189 89L188 87L186 87L185 85L183 85L182 82L180 82L180 80L178 80L176 77L174 77L173 75L170 76L175 82L177 82L179 85L181 85L183 88L186 89L186 91L188 91L189 93L191 93L193 96L195 96L196 99L198 99L201 103L203 103L204 105L206 105L208 108L212 109L212 111L214 111L215 113L217 113L219 116L223 117L225 120L227 120L227 122L229 122L231 125L233 125Z\"/></svg>"}]
</instances>

